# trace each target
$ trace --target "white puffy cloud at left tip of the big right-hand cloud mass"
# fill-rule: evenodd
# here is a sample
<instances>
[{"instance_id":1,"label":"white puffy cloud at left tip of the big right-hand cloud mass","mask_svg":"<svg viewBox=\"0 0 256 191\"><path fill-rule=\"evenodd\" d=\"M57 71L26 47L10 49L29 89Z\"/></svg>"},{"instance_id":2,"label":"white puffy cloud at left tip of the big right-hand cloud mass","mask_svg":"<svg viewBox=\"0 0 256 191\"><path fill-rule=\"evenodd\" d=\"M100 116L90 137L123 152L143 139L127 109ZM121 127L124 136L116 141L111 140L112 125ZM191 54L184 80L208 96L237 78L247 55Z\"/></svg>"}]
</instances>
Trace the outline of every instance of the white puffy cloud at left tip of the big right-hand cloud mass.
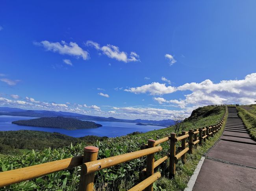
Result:
<instances>
[{"instance_id":1,"label":"white puffy cloud at left tip of the big right-hand cloud mass","mask_svg":"<svg viewBox=\"0 0 256 191\"><path fill-rule=\"evenodd\" d=\"M129 89L124 89L124 91L132 92L135 94L150 93L150 95L161 95L173 93L174 91L176 91L176 89L171 85L165 86L165 84L160 84L159 82L152 82L151 84L142 85L140 87L131 87Z\"/></svg>"}]
</instances>

